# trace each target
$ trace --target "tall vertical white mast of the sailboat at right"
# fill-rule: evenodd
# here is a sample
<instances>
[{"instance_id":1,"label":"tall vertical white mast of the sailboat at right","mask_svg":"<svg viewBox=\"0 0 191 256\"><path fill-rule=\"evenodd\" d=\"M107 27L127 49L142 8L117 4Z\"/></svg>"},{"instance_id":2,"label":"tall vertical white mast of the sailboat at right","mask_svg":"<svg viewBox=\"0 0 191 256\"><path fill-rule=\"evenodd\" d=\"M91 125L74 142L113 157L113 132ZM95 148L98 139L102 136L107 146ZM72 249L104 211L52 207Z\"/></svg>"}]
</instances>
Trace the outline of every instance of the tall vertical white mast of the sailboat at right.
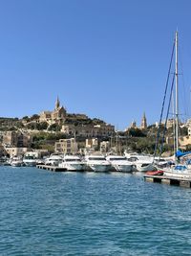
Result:
<instances>
[{"instance_id":1,"label":"tall vertical white mast of the sailboat at right","mask_svg":"<svg viewBox=\"0 0 191 256\"><path fill-rule=\"evenodd\" d=\"M176 91L175 91L175 116L176 116L176 151L179 150L179 97L178 97L178 31L176 32L175 38L176 44L176 59L175 59L175 83L176 83Z\"/></svg>"}]
</instances>

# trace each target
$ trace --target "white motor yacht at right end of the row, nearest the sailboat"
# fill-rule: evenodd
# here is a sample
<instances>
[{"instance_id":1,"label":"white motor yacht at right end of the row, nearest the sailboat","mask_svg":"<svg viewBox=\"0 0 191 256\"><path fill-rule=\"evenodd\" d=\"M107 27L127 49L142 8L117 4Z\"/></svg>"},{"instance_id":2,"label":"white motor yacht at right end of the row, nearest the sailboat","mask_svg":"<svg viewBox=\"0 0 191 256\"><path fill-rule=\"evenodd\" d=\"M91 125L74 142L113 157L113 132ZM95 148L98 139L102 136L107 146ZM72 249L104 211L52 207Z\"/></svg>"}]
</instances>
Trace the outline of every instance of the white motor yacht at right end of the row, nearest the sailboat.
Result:
<instances>
[{"instance_id":1,"label":"white motor yacht at right end of the row, nearest the sailboat","mask_svg":"<svg viewBox=\"0 0 191 256\"><path fill-rule=\"evenodd\" d=\"M149 172L156 170L156 167L153 164L153 157L150 155L126 153L126 156L127 160L135 165L135 171Z\"/></svg>"}]
</instances>

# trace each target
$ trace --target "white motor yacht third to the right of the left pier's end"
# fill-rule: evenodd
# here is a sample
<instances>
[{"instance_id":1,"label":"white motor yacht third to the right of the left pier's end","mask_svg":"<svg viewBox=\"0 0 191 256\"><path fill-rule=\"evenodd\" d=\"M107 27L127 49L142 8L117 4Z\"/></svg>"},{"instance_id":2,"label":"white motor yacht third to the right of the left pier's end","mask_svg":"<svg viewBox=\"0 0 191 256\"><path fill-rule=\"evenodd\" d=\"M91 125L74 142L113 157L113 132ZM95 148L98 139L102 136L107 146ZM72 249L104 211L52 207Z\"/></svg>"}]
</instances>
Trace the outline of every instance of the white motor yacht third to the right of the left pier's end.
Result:
<instances>
[{"instance_id":1,"label":"white motor yacht third to the right of the left pier's end","mask_svg":"<svg viewBox=\"0 0 191 256\"><path fill-rule=\"evenodd\" d=\"M118 172L130 173L133 171L133 163L127 160L126 156L108 155L106 159Z\"/></svg>"}]
</instances>

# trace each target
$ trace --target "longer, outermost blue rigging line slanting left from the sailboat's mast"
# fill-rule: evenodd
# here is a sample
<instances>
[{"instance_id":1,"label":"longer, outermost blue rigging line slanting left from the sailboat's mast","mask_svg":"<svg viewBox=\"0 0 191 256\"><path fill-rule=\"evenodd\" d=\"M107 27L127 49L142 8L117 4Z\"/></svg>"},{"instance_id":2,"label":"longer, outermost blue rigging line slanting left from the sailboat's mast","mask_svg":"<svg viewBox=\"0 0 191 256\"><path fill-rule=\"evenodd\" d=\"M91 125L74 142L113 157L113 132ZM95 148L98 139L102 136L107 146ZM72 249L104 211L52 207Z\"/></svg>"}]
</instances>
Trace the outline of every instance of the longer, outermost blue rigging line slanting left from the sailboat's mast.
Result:
<instances>
[{"instance_id":1,"label":"longer, outermost blue rigging line slanting left from the sailboat's mast","mask_svg":"<svg viewBox=\"0 0 191 256\"><path fill-rule=\"evenodd\" d=\"M157 139L156 139L153 162L155 160L157 149L158 149L158 144L159 144L159 133L160 133L160 128L161 128L161 119L163 116L164 104L165 104L165 100L166 100L166 94L167 94L168 82L169 82L170 74L171 74L171 67L172 67L174 52L175 52L175 41L173 43L173 50L172 50L172 54L171 54L171 58L170 58L170 65L169 65L168 75L167 75L167 80L166 80L166 85L165 85L164 98L163 98L163 102L162 102L162 106L161 106L161 113L160 113L160 117L159 117L159 129L158 129L158 134L157 134Z\"/></svg>"}]
</instances>

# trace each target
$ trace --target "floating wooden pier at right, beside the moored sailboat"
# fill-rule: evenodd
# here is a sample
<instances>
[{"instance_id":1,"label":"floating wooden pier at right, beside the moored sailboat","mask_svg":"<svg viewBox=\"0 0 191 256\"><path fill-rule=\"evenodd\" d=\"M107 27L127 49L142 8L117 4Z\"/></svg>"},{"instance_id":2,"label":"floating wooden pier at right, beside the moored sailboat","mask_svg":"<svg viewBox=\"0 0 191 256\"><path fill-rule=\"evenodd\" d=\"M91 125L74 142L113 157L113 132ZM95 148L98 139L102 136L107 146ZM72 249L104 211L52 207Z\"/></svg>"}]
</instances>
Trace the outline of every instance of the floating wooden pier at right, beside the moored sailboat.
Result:
<instances>
[{"instance_id":1,"label":"floating wooden pier at right, beside the moored sailboat","mask_svg":"<svg viewBox=\"0 0 191 256\"><path fill-rule=\"evenodd\" d=\"M191 188L191 179L172 177L165 175L144 175L144 180L148 182L156 182L167 185L175 185L184 188Z\"/></svg>"}]
</instances>

